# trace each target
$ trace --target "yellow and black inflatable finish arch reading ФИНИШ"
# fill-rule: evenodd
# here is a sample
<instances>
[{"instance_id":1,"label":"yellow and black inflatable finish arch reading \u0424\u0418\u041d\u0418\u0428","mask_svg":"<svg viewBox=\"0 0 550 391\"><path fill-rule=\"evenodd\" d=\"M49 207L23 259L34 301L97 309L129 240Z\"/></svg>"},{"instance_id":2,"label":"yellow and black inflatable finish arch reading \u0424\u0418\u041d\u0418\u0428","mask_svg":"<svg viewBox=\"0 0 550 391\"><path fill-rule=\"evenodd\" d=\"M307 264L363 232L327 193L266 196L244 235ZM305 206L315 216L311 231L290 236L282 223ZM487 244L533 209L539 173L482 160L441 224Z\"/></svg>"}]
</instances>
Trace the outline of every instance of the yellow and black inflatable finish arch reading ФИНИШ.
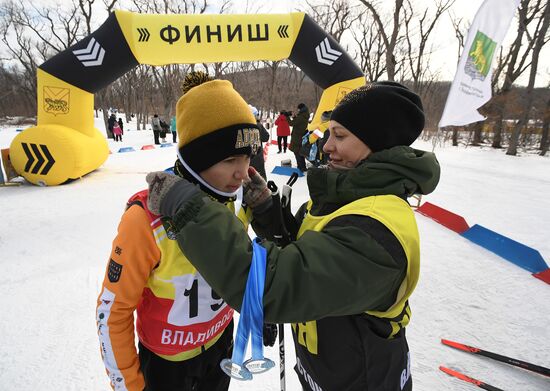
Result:
<instances>
[{"instance_id":1,"label":"yellow and black inflatable finish arch reading \u0424\u0418\u041d\u0418\u0428","mask_svg":"<svg viewBox=\"0 0 550 391\"><path fill-rule=\"evenodd\" d=\"M148 15L115 11L96 31L38 71L37 126L10 146L15 170L29 182L59 185L105 162L109 148L94 128L94 92L138 64L164 65L288 58L324 89L310 128L363 73L343 48L304 13Z\"/></svg>"}]
</instances>

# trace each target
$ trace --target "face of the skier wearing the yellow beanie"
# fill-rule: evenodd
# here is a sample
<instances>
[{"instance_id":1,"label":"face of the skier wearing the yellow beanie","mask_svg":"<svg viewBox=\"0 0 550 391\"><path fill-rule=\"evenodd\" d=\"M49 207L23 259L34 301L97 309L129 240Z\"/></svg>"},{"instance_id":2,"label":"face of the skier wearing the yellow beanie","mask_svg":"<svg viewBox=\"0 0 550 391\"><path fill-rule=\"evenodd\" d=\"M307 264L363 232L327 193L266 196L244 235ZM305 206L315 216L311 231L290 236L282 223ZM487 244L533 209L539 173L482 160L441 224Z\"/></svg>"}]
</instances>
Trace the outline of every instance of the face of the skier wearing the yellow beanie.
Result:
<instances>
[{"instance_id":1,"label":"face of the skier wearing the yellow beanie","mask_svg":"<svg viewBox=\"0 0 550 391\"><path fill-rule=\"evenodd\" d=\"M200 176L210 186L225 193L234 193L247 177L250 157L235 155L214 164L200 172Z\"/></svg>"}]
</instances>

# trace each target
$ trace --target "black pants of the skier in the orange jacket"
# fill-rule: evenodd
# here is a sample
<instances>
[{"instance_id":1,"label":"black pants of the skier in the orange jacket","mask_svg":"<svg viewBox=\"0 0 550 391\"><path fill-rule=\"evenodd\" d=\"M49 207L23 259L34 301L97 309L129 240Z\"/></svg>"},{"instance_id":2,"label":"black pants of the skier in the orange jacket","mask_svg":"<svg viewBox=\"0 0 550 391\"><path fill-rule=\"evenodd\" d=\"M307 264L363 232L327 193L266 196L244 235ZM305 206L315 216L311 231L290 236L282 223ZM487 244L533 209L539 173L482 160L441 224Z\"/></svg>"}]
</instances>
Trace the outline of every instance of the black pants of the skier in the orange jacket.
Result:
<instances>
[{"instance_id":1,"label":"black pants of the skier in the orange jacket","mask_svg":"<svg viewBox=\"0 0 550 391\"><path fill-rule=\"evenodd\" d=\"M227 391L230 377L220 361L233 353L233 322L209 349L185 361L168 361L139 343L143 391Z\"/></svg>"}]
</instances>

